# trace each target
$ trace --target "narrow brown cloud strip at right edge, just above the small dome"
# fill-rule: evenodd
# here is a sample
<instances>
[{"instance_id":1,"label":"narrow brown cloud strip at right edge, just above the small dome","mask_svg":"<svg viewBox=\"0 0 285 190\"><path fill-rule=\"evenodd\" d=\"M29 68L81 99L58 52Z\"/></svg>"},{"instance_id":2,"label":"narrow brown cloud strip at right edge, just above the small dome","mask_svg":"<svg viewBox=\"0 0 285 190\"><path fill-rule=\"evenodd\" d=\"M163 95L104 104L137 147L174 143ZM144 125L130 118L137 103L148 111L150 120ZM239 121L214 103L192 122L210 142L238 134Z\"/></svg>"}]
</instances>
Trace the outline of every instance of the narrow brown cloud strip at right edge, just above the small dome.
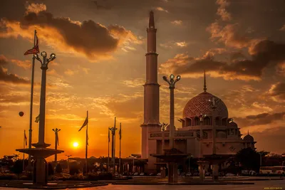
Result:
<instances>
[{"instance_id":1,"label":"narrow brown cloud strip at right edge, just above the small dome","mask_svg":"<svg viewBox=\"0 0 285 190\"><path fill-rule=\"evenodd\" d=\"M262 113L259 115L248 115L247 117L234 117L239 127L250 127L254 125L267 125L278 120L285 119L285 112Z\"/></svg>"}]
</instances>

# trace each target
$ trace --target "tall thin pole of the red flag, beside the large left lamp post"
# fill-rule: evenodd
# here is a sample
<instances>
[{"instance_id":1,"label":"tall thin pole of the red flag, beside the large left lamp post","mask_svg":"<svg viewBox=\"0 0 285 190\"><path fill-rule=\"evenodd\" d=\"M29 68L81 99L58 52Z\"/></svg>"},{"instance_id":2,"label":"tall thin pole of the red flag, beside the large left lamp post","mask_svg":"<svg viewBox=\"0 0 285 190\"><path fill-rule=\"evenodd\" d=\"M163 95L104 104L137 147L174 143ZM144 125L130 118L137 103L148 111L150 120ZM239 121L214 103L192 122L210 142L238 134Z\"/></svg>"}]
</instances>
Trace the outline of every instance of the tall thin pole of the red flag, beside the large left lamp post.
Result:
<instances>
[{"instance_id":1,"label":"tall thin pole of the red flag, beside the large left lamp post","mask_svg":"<svg viewBox=\"0 0 285 190\"><path fill-rule=\"evenodd\" d=\"M36 30L33 35L33 46L36 46ZM33 120L33 78L35 73L35 57L31 65L31 103L30 103L30 126L28 130L28 148L31 149L31 138L32 138L32 120ZM31 154L28 154L28 167L31 167Z\"/></svg>"}]
</instances>

